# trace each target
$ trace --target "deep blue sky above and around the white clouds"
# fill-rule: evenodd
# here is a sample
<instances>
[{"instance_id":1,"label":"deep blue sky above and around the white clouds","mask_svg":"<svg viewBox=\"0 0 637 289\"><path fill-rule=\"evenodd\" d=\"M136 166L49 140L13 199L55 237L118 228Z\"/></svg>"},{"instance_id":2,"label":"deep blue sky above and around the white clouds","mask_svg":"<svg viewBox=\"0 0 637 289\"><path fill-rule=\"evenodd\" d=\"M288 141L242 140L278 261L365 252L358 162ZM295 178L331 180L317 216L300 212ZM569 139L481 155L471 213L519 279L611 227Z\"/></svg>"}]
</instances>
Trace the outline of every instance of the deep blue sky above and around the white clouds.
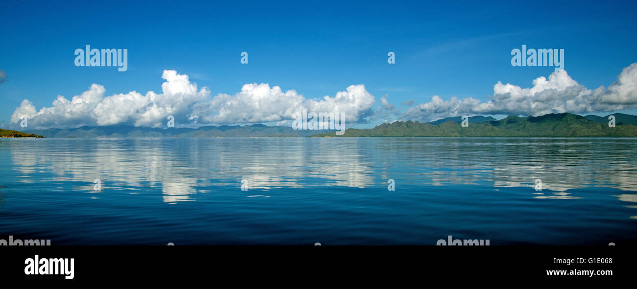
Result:
<instances>
[{"instance_id":1,"label":"deep blue sky above and around the white clouds","mask_svg":"<svg viewBox=\"0 0 637 289\"><path fill-rule=\"evenodd\" d=\"M568 76L589 90L607 88L637 62L635 1L3 2L5 123L22 100L39 111L57 95L70 100L93 83L104 86L104 96L161 93L162 73L175 70L197 89L207 86L210 98L236 95L249 83L304 98L334 97L364 84L375 105L356 121L368 127L400 119L408 109L401 103L410 99L414 105L434 95L487 102L498 81L529 88L533 79L550 76L554 67L510 64L511 50L522 44L563 48ZM127 48L128 70L76 67L74 51L86 44ZM247 65L240 63L242 51ZM396 64L387 63L389 51ZM396 110L362 119L383 95ZM637 114L634 103L625 107ZM422 118L436 116L442 115Z\"/></svg>"}]
</instances>

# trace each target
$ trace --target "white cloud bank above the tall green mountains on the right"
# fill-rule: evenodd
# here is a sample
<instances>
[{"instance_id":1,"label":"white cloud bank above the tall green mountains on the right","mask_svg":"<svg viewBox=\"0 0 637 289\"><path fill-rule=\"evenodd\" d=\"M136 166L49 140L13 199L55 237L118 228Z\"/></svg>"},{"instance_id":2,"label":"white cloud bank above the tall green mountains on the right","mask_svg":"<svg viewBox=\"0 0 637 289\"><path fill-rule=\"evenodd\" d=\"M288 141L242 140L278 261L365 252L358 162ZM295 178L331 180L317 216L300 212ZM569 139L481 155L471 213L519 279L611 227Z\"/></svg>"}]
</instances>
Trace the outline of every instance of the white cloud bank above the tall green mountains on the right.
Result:
<instances>
[{"instance_id":1,"label":"white cloud bank above the tall green mountains on the right","mask_svg":"<svg viewBox=\"0 0 637 289\"><path fill-rule=\"evenodd\" d=\"M493 90L494 95L488 102L471 97L443 100L434 95L431 102L407 109L400 119L429 121L465 114L540 116L562 112L584 114L634 109L637 108L637 63L624 68L608 89L599 86L589 90L562 70L553 72L548 79L543 76L534 79L531 88L498 81Z\"/></svg>"}]
</instances>

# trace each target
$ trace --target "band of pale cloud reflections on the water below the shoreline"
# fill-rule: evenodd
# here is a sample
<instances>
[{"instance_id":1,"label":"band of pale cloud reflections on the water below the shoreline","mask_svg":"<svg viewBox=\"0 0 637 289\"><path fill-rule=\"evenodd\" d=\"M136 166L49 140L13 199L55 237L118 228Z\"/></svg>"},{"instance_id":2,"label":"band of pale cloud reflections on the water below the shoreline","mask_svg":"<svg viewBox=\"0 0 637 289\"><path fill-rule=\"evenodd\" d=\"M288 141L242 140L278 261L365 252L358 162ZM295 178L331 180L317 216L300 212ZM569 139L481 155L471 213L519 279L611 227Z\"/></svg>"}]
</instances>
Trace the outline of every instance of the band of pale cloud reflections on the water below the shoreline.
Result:
<instances>
[{"instance_id":1,"label":"band of pale cloud reflections on the water below the shoreline","mask_svg":"<svg viewBox=\"0 0 637 289\"><path fill-rule=\"evenodd\" d=\"M583 198L573 189L636 191L627 138L108 138L3 140L16 182L52 191L272 196L276 189L457 184L528 187L530 198ZM93 180L101 191L92 191ZM533 189L542 180L543 190ZM249 191L241 191L241 180ZM406 187L406 186L403 186ZM456 189L450 187L450 189ZM270 191L264 194L264 191ZM497 189L496 189L497 191ZM618 196L637 201L633 194Z\"/></svg>"}]
</instances>

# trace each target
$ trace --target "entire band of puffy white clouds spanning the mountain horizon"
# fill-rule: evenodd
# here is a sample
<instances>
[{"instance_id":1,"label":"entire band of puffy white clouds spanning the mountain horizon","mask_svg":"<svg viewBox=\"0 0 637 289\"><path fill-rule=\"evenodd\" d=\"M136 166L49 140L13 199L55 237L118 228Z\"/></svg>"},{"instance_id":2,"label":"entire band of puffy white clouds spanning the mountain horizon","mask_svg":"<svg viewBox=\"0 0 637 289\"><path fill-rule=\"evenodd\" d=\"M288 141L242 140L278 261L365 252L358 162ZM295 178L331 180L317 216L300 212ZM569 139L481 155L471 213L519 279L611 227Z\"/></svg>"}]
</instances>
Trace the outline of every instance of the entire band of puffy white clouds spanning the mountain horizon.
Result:
<instances>
[{"instance_id":1,"label":"entire band of puffy white clouds spanning the mountain horizon","mask_svg":"<svg viewBox=\"0 0 637 289\"><path fill-rule=\"evenodd\" d=\"M576 114L623 111L637 108L637 63L624 68L615 83L589 90L573 80L566 71L538 77L533 87L513 84L494 85L487 102L476 98L449 100L434 95L430 102L413 105L403 113L391 104L387 95L376 105L375 97L363 84L348 86L333 97L305 98L296 90L283 91L267 83L245 84L234 95L211 97L207 87L197 88L185 74L164 71L162 92L136 91L106 96L104 86L92 84L89 90L71 100L58 96L51 107L36 107L23 100L11 115L16 126L22 116L29 128L71 128L78 126L134 125L165 127L167 117L175 116L177 126L204 124L277 123L290 124L294 112L343 112L348 124L368 123L376 119L432 121L462 115L506 114L534 115L571 112ZM376 106L375 106L376 105ZM412 106L413 105L413 106Z\"/></svg>"}]
</instances>

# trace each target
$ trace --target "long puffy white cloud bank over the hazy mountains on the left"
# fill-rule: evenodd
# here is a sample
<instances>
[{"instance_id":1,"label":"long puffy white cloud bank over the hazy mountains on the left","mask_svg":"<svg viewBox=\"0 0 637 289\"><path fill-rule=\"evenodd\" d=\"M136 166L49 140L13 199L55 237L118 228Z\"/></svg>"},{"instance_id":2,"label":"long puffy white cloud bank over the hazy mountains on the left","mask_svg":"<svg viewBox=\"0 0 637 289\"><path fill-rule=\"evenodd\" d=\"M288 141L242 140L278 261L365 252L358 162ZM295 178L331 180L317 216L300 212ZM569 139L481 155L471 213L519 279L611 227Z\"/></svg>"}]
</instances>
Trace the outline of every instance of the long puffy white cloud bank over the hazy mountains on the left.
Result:
<instances>
[{"instance_id":1,"label":"long puffy white cloud bank over the hazy mountains on the left","mask_svg":"<svg viewBox=\"0 0 637 289\"><path fill-rule=\"evenodd\" d=\"M179 126L192 124L267 123L292 120L294 112L344 112L346 123L361 123L373 113L375 98L362 84L352 85L334 97L306 99L295 90L282 91L267 83L245 84L235 95L210 97L207 87L197 89L187 75L164 71L162 93L136 91L105 96L104 86L68 100L59 95L51 107L36 107L23 100L11 115L17 124L29 118L29 128L70 128L78 126L133 125L164 127L168 116Z\"/></svg>"}]
</instances>

